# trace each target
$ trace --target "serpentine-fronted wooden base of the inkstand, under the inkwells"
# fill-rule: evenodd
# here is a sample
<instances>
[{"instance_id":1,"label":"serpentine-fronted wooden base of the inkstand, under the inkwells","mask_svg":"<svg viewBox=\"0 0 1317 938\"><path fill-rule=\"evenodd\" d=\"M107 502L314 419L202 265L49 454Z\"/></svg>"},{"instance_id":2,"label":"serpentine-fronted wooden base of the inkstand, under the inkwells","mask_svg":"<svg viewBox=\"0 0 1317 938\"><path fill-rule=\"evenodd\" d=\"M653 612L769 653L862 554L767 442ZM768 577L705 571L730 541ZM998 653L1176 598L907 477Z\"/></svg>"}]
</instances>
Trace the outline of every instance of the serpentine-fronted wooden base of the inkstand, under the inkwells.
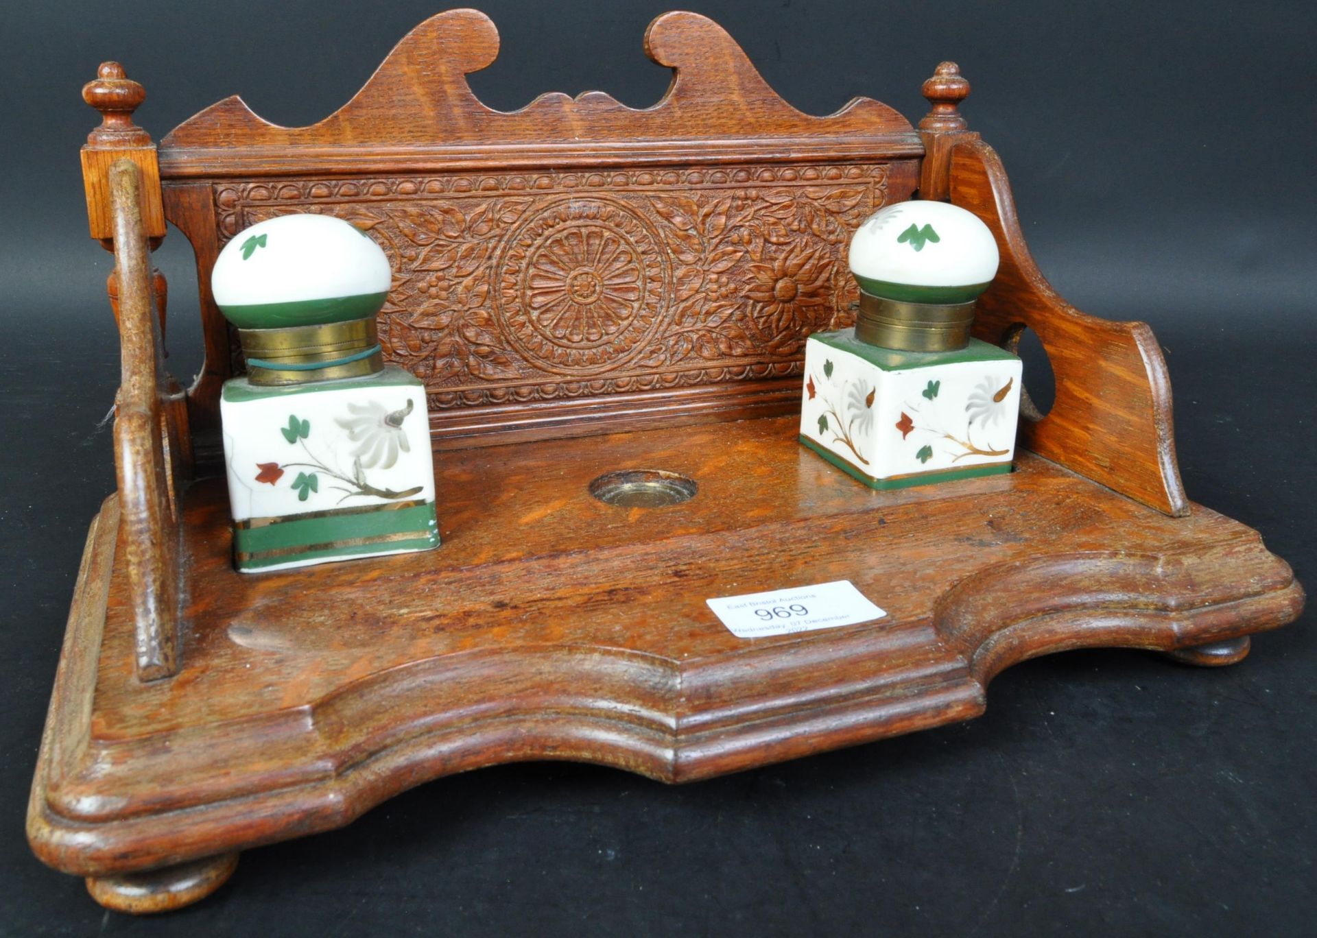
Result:
<instances>
[{"instance_id":1,"label":"serpentine-fronted wooden base of the inkstand, under the inkwells","mask_svg":"<svg viewBox=\"0 0 1317 938\"><path fill-rule=\"evenodd\" d=\"M199 482L183 499L183 664L146 684L108 499L33 847L140 910L125 872L338 827L452 772L573 759L690 781L976 717L997 672L1052 651L1234 660L1303 606L1258 535L1206 509L1171 518L1027 452L1008 476L872 491L795 423L440 452L444 547L304 570L236 573L224 489ZM698 493L591 498L619 469ZM705 605L834 580L888 615L743 640ZM171 877L142 880L162 884L159 908L223 879Z\"/></svg>"}]
</instances>

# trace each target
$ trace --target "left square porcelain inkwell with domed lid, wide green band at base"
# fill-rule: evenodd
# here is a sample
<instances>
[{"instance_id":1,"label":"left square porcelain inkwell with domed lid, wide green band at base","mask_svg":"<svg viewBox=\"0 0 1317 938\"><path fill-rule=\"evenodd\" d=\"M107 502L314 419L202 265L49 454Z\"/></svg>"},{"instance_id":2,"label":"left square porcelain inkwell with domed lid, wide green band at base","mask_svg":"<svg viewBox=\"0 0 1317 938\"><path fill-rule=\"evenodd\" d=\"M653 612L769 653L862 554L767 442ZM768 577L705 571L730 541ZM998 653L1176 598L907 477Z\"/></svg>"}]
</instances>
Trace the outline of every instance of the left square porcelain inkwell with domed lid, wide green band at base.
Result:
<instances>
[{"instance_id":1,"label":"left square porcelain inkwell with domed lid, wide green band at base","mask_svg":"<svg viewBox=\"0 0 1317 938\"><path fill-rule=\"evenodd\" d=\"M390 281L369 234L323 215L261 221L216 260L248 365L220 398L238 570L439 545L425 389L375 333Z\"/></svg>"}]
</instances>

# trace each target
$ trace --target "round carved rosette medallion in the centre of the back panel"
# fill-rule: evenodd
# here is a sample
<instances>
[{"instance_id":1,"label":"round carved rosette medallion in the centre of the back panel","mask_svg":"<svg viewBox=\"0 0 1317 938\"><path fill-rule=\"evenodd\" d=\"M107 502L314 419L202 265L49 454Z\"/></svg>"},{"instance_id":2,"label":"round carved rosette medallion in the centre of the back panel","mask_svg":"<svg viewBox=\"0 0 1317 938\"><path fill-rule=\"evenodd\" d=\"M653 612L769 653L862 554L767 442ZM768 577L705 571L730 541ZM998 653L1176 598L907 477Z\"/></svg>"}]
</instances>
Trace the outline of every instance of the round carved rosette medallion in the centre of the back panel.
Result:
<instances>
[{"instance_id":1,"label":"round carved rosette medallion in the centre of the back panel","mask_svg":"<svg viewBox=\"0 0 1317 938\"><path fill-rule=\"evenodd\" d=\"M607 372L644 350L668 304L657 232L616 202L553 203L512 231L495 262L497 321L556 374Z\"/></svg>"}]
</instances>

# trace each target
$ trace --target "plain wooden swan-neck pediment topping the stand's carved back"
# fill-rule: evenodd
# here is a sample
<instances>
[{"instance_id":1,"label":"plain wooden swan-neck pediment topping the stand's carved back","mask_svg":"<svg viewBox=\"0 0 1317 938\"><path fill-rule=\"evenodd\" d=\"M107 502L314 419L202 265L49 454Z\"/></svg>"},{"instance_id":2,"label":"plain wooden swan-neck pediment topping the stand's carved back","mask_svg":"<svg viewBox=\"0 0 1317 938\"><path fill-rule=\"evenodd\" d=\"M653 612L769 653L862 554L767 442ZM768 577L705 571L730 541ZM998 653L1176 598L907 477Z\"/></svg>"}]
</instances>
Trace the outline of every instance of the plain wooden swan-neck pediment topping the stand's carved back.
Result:
<instances>
[{"instance_id":1,"label":"plain wooden swan-neck pediment topping the stand's carved back","mask_svg":"<svg viewBox=\"0 0 1317 938\"><path fill-rule=\"evenodd\" d=\"M520 111L482 104L466 74L493 65L498 29L474 9L437 13L411 30L365 87L319 124L284 128L227 97L161 141L162 177L300 175L323 169L415 171L497 165L541 167L572 155L590 165L635 167L739 159L745 148L823 159L921 155L909 121L857 97L828 117L790 107L768 87L722 26L698 13L664 13L649 24L644 53L673 70L662 99L630 108L590 91L545 94ZM769 144L769 141L774 141ZM547 159L547 154L561 154Z\"/></svg>"}]
</instances>

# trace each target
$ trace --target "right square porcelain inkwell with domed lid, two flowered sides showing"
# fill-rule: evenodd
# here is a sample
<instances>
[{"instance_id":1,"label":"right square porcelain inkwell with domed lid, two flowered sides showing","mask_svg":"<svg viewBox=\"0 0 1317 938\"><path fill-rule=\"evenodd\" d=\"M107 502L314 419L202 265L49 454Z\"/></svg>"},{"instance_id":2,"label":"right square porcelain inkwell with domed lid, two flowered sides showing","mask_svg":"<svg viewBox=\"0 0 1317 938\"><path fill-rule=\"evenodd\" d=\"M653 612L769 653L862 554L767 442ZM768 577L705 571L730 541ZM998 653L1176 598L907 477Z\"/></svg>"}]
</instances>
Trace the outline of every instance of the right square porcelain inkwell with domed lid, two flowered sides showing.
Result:
<instances>
[{"instance_id":1,"label":"right square porcelain inkwell with domed lid, two flowered sides showing","mask_svg":"<svg viewBox=\"0 0 1317 938\"><path fill-rule=\"evenodd\" d=\"M969 336L997 273L973 213L903 202L851 240L855 328L810 336L801 443L873 489L1010 472L1019 358Z\"/></svg>"}]
</instances>

